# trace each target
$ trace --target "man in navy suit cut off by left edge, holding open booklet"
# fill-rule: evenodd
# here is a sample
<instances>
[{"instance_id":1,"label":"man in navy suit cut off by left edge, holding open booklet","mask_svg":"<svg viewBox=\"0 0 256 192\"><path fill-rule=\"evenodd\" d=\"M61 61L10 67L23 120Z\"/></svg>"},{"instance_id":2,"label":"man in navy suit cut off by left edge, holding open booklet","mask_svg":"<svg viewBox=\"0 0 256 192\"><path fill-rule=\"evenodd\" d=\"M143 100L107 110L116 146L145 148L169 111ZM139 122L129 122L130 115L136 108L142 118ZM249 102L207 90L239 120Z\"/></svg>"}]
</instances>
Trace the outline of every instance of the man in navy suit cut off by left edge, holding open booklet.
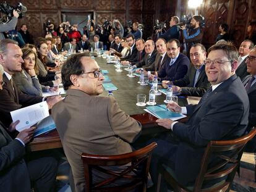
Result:
<instances>
[{"instance_id":1,"label":"man in navy suit cut off by left edge, holding open booklet","mask_svg":"<svg viewBox=\"0 0 256 192\"><path fill-rule=\"evenodd\" d=\"M0 90L4 81L0 65ZM30 182L35 191L54 191L58 162L53 157L43 157L24 161L25 144L33 137L35 127L20 131L12 140L6 130L12 132L19 121L11 123L7 129L0 122L0 189L1 191L30 191Z\"/></svg>"}]
</instances>

